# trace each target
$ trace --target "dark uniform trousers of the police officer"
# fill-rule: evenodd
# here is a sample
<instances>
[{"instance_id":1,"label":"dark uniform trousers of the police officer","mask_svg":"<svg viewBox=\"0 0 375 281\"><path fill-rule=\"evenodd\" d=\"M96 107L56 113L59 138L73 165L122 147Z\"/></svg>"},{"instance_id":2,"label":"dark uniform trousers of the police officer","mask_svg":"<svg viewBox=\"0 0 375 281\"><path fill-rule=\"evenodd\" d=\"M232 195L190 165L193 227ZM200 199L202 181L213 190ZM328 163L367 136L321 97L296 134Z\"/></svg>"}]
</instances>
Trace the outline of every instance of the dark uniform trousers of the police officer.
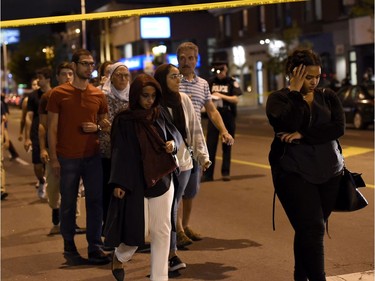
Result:
<instances>
[{"instance_id":1,"label":"dark uniform trousers of the police officer","mask_svg":"<svg viewBox=\"0 0 375 281\"><path fill-rule=\"evenodd\" d=\"M224 125L227 128L229 134L234 138L234 133L236 130L235 117L233 113L228 109L219 109L221 118L223 119ZM211 166L204 172L206 178L213 178L215 171L215 156L217 145L219 142L220 132L216 129L215 125L208 120L207 123L207 148L210 160L212 161ZM221 140L220 140L221 142ZM230 160L232 154L232 146L222 143L223 161L221 165L221 175L230 175Z\"/></svg>"}]
</instances>

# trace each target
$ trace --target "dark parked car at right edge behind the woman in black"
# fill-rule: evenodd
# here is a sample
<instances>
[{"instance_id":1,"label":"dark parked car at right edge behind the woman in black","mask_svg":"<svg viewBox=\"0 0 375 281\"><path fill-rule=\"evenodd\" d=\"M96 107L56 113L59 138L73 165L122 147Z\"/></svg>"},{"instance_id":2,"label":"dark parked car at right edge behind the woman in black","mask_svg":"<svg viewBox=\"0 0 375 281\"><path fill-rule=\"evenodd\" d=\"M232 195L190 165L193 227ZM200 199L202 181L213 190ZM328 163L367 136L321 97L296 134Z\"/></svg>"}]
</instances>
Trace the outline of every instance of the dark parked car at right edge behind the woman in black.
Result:
<instances>
[{"instance_id":1,"label":"dark parked car at right edge behind the woman in black","mask_svg":"<svg viewBox=\"0 0 375 281\"><path fill-rule=\"evenodd\" d=\"M349 85L340 88L337 96L345 112L346 123L356 129L374 124L374 86Z\"/></svg>"}]
</instances>

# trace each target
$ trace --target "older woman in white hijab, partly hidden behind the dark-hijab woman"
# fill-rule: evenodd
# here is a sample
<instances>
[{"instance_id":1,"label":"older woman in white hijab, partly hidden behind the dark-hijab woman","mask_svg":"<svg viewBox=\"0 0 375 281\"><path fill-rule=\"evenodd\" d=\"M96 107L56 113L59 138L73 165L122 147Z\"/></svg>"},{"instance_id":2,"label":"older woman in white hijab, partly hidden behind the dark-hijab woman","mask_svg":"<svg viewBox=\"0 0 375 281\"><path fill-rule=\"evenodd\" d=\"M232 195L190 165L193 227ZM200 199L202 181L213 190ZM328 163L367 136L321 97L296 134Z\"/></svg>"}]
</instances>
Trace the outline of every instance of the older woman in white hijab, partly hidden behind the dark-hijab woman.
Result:
<instances>
[{"instance_id":1,"label":"older woman in white hijab, partly hidden behind the dark-hijab woman","mask_svg":"<svg viewBox=\"0 0 375 281\"><path fill-rule=\"evenodd\" d=\"M103 85L102 91L107 97L108 120L112 124L117 113L125 110L129 103L130 72L122 62L116 62L109 68L109 78ZM100 128L99 128L100 130ZM111 171L111 130L99 132L100 153L103 167L103 221L107 217L109 200L113 192L108 185Z\"/></svg>"}]
</instances>

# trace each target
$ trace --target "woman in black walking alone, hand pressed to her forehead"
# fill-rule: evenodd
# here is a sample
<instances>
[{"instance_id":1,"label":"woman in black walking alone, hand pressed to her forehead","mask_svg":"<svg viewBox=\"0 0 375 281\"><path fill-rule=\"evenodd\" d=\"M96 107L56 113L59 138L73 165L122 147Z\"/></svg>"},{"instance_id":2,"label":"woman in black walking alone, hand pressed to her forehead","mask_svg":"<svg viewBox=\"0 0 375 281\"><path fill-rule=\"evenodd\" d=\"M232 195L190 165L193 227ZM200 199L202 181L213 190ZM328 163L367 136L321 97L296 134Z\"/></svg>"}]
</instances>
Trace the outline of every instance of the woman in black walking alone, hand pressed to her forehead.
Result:
<instances>
[{"instance_id":1,"label":"woman in black walking alone, hand pressed to her forehead","mask_svg":"<svg viewBox=\"0 0 375 281\"><path fill-rule=\"evenodd\" d=\"M272 93L266 113L275 138L269 161L276 194L295 231L294 280L326 280L324 230L344 162L337 139L345 117L330 89L317 88L321 61L311 50L288 57L290 85Z\"/></svg>"}]
</instances>

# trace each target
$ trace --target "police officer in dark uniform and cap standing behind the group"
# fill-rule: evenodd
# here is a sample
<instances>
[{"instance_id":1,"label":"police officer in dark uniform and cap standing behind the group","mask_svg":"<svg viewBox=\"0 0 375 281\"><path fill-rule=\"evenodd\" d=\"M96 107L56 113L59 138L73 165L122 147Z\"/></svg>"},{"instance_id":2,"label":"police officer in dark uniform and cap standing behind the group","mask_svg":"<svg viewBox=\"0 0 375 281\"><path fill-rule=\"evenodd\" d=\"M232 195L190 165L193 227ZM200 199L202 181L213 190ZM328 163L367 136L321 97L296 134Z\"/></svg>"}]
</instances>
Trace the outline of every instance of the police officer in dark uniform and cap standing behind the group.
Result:
<instances>
[{"instance_id":1,"label":"police officer in dark uniform and cap standing behind the group","mask_svg":"<svg viewBox=\"0 0 375 281\"><path fill-rule=\"evenodd\" d=\"M234 137L238 96L242 95L240 85L233 77L228 76L227 61L214 61L211 71L214 77L209 81L212 100L219 111L229 134ZM219 130L208 120L207 148L212 165L204 172L202 181L213 181L215 170L215 155L219 141ZM221 175L224 181L230 180L231 146L222 144L223 161Z\"/></svg>"}]
</instances>

